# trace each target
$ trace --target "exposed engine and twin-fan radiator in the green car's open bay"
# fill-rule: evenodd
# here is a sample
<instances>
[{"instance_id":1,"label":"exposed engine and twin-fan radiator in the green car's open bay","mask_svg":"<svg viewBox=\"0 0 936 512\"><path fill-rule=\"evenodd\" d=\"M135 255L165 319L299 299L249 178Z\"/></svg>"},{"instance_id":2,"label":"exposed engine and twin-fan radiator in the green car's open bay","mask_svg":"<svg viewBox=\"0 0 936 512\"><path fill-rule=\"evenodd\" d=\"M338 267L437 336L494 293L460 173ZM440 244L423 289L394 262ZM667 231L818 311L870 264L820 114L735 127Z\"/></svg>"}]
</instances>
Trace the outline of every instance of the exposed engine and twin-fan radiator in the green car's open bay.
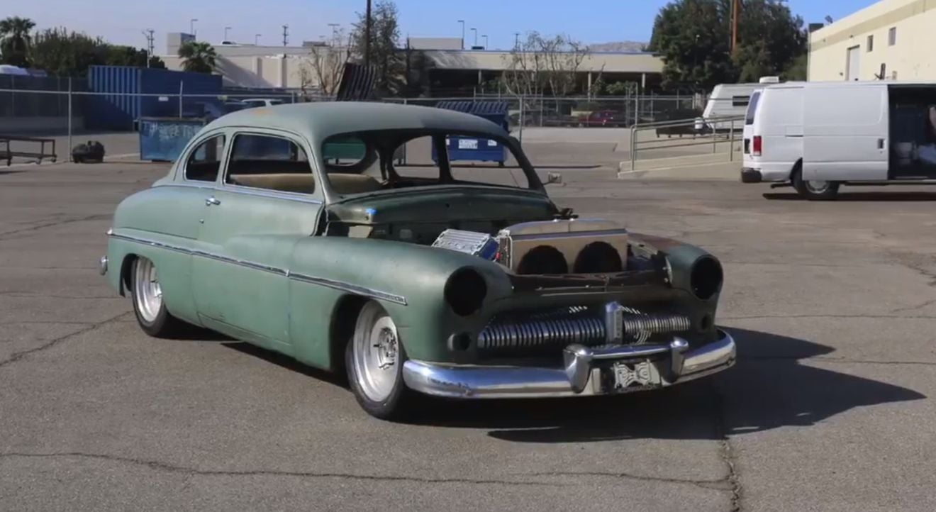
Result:
<instances>
[{"instance_id":1,"label":"exposed engine and twin-fan radiator in the green car's open bay","mask_svg":"<svg viewBox=\"0 0 936 512\"><path fill-rule=\"evenodd\" d=\"M518 274L606 273L624 271L627 230L602 219L556 219L486 233L446 229L433 247L472 254Z\"/></svg>"}]
</instances>

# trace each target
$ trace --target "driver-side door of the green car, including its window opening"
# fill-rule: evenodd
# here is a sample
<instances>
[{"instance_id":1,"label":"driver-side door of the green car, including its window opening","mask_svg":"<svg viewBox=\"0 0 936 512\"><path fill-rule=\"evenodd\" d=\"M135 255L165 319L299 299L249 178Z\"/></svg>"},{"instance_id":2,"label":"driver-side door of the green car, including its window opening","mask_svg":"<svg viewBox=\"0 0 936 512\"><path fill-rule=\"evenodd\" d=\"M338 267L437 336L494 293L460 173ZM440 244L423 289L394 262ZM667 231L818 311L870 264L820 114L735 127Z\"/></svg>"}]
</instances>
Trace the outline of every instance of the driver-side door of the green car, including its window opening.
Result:
<instances>
[{"instance_id":1,"label":"driver-side door of the green car, including its window opening","mask_svg":"<svg viewBox=\"0 0 936 512\"><path fill-rule=\"evenodd\" d=\"M221 185L205 197L193 259L203 323L285 353L292 248L314 234L322 209L308 154L293 134L233 133Z\"/></svg>"}]
</instances>

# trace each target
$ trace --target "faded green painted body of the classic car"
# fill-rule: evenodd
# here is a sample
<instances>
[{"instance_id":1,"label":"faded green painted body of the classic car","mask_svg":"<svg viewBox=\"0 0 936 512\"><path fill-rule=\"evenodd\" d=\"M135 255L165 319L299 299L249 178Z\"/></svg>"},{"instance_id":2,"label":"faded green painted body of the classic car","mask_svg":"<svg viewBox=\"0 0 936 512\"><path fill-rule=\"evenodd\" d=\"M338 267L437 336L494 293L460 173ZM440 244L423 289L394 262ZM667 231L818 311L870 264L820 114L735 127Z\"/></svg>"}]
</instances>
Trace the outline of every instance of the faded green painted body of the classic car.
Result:
<instances>
[{"instance_id":1,"label":"faded green painted body of the classic car","mask_svg":"<svg viewBox=\"0 0 936 512\"><path fill-rule=\"evenodd\" d=\"M122 289L122 262L148 257L172 315L325 369L341 360L333 353L331 334L339 321L337 308L349 298L380 301L397 324L407 355L428 361L476 362L475 347L453 350L447 340L461 332L476 335L499 312L608 300L678 304L697 326L690 338L714 337L713 326L698 326L703 316L713 318L718 294L695 299L688 278L692 264L707 253L689 244L633 237L636 245L666 257L670 285L548 292L514 291L500 265L428 246L445 227L494 232L552 218L559 209L536 183L528 190L440 185L329 197L327 186L316 187L312 195L233 186L224 183L223 172L214 183L186 182L180 168L197 143L214 133L227 136L225 155L239 131L281 135L316 155L321 140L331 135L393 127L505 136L499 126L472 115L416 107L344 103L229 114L190 142L166 178L117 207L108 246L110 285ZM310 163L322 183L321 161ZM528 175L533 172L525 158L520 164ZM223 156L221 168L226 166ZM206 203L210 197L216 200ZM344 236L355 225L373 228L376 238ZM402 240L403 231L408 240ZM478 312L462 317L443 294L450 276L466 267L484 276L488 295Z\"/></svg>"}]
</instances>

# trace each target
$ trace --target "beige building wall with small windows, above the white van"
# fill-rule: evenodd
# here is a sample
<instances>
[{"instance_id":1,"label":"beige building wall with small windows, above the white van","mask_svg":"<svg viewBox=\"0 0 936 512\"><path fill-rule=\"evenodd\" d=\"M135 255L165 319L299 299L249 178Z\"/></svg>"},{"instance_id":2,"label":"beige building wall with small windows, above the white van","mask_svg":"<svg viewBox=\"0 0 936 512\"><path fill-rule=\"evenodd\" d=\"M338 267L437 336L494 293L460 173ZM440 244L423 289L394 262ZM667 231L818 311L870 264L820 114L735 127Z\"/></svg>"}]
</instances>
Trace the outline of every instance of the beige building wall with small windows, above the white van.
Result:
<instances>
[{"instance_id":1,"label":"beige building wall with small windows, above the white van","mask_svg":"<svg viewBox=\"0 0 936 512\"><path fill-rule=\"evenodd\" d=\"M876 80L882 64L886 80L936 80L936 0L882 0L810 35L809 80Z\"/></svg>"}]
</instances>

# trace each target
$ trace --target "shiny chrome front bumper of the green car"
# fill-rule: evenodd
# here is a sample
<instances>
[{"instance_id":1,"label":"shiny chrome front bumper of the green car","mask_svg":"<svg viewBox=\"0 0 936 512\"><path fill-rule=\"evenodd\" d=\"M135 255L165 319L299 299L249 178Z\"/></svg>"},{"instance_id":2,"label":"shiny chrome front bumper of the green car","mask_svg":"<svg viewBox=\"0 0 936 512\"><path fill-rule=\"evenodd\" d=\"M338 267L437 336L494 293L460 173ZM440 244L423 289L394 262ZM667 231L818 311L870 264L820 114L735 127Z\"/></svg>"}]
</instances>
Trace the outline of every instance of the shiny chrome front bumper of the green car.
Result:
<instances>
[{"instance_id":1,"label":"shiny chrome front bumper of the green car","mask_svg":"<svg viewBox=\"0 0 936 512\"><path fill-rule=\"evenodd\" d=\"M428 395L448 398L548 398L624 393L665 388L721 372L735 364L735 341L724 330L719 339L688 350L674 338L670 344L588 348L570 345L563 353L564 368L526 366L478 366L431 363L410 359L403 364L406 386ZM660 357L665 355L665 357ZM650 386L613 388L602 378L602 363L653 358L646 372L653 375Z\"/></svg>"}]
</instances>

